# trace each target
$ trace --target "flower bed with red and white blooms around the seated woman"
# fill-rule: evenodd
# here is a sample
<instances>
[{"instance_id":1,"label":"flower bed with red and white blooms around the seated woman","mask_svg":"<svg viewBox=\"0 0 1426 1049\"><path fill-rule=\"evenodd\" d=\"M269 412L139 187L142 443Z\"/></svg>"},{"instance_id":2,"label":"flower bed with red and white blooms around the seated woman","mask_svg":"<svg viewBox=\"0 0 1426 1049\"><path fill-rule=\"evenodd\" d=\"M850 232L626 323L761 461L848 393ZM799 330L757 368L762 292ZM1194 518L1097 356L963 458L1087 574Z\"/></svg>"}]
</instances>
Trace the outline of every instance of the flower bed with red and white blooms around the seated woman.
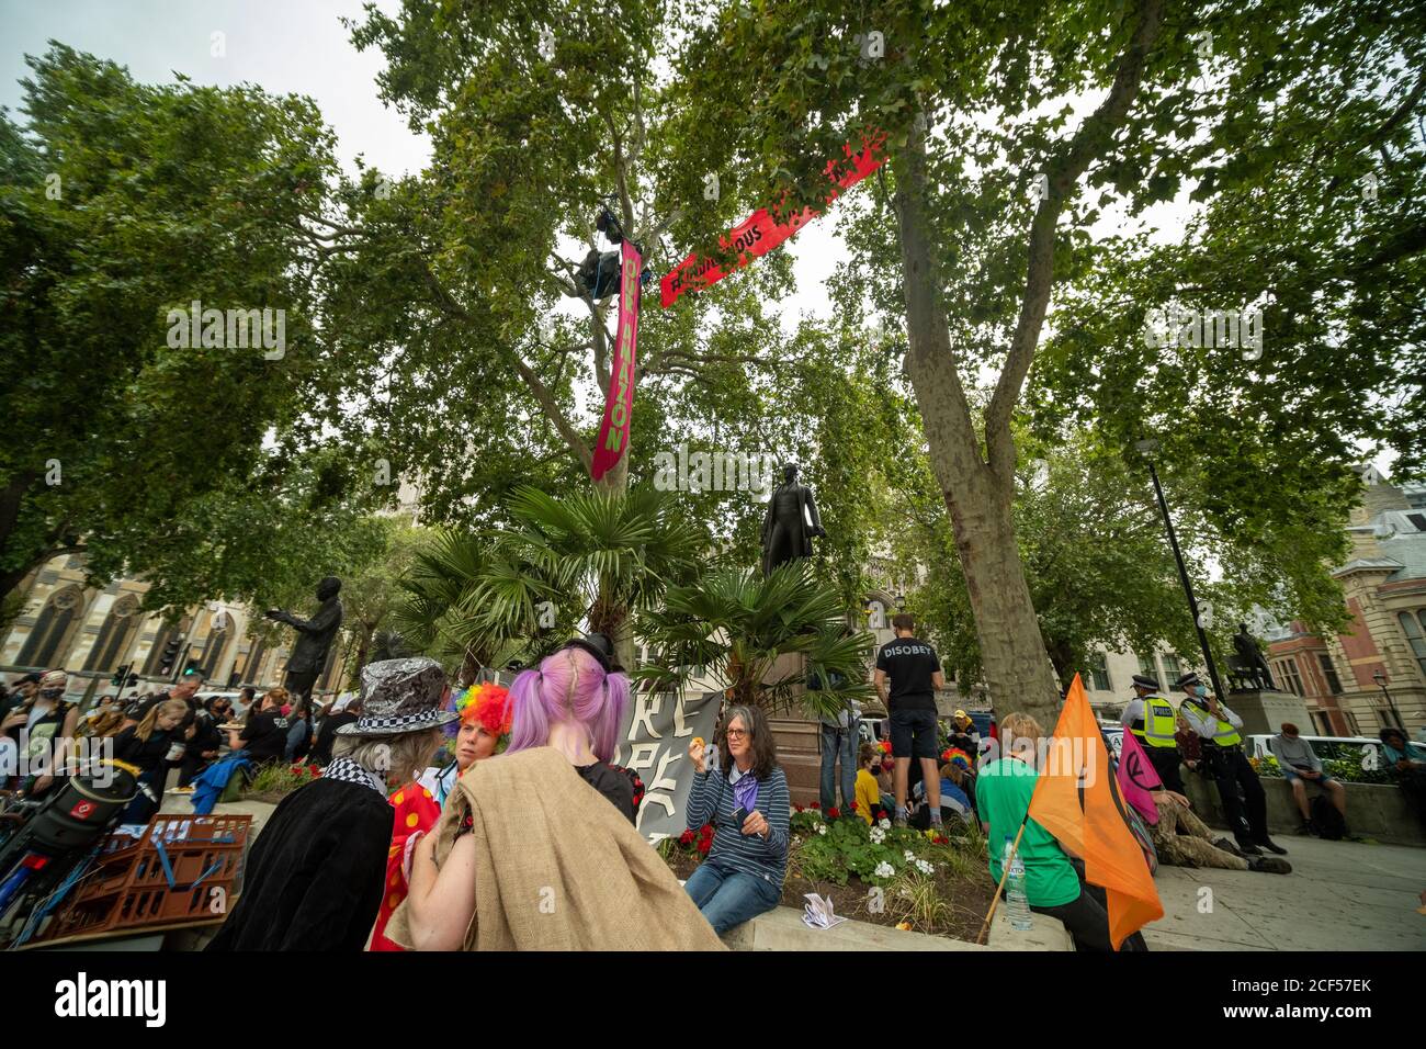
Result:
<instances>
[{"instance_id":1,"label":"flower bed with red and white blooms around the seated woman","mask_svg":"<svg viewBox=\"0 0 1426 1049\"><path fill-rule=\"evenodd\" d=\"M709 853L713 828L659 843L679 878ZM995 883L985 865L980 828L958 825L943 835L890 821L868 826L853 814L814 805L791 818L783 905L799 911L806 893L830 898L837 915L876 925L974 941Z\"/></svg>"}]
</instances>

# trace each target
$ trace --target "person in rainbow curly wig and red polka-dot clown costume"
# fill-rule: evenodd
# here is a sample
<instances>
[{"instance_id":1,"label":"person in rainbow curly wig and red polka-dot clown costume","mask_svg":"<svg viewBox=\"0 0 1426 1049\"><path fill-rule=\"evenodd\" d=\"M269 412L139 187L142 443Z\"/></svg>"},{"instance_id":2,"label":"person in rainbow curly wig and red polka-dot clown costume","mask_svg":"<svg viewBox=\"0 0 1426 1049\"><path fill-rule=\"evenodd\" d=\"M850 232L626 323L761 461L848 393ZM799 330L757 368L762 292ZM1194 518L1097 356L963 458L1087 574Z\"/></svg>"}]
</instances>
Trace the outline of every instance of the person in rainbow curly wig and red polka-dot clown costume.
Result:
<instances>
[{"instance_id":1,"label":"person in rainbow curly wig and red polka-dot clown costume","mask_svg":"<svg viewBox=\"0 0 1426 1049\"><path fill-rule=\"evenodd\" d=\"M396 811L396 829L386 859L386 888L371 935L371 951L401 951L386 936L392 912L411 891L411 858L422 835L441 818L441 806L455 789L455 782L478 761L502 754L511 741L515 715L509 689L498 684L468 688L456 704L461 728L456 732L456 756L442 769L428 768L419 779L391 796ZM439 794L436 792L439 791Z\"/></svg>"}]
</instances>

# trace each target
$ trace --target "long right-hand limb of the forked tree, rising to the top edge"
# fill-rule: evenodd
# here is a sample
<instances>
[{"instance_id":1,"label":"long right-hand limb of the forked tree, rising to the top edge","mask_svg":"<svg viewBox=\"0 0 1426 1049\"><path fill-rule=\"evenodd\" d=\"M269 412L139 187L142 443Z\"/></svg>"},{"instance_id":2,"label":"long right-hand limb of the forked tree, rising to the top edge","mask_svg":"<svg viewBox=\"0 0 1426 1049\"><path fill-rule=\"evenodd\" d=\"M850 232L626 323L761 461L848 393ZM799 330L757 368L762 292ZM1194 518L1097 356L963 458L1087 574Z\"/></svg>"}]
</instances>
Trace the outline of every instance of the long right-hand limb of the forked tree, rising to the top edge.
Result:
<instances>
[{"instance_id":1,"label":"long right-hand limb of the forked tree, rising to the top edge","mask_svg":"<svg viewBox=\"0 0 1426 1049\"><path fill-rule=\"evenodd\" d=\"M1124 123L1129 104L1138 94L1144 64L1158 39L1164 0L1141 0L1134 34L1119 59L1109 94L1079 126L1070 148L1050 166L1050 193L1040 201L1030 228L1030 251L1025 267L1025 293L1020 321L1011 338L1005 367L995 382L990 408L985 411L985 450L990 467L1002 481L1015 472L1015 447L1010 432L1010 417L1020 400L1025 375L1040 344L1040 331L1050 305L1054 285L1055 224L1060 211L1089 161L1104 153L1114 131Z\"/></svg>"}]
</instances>

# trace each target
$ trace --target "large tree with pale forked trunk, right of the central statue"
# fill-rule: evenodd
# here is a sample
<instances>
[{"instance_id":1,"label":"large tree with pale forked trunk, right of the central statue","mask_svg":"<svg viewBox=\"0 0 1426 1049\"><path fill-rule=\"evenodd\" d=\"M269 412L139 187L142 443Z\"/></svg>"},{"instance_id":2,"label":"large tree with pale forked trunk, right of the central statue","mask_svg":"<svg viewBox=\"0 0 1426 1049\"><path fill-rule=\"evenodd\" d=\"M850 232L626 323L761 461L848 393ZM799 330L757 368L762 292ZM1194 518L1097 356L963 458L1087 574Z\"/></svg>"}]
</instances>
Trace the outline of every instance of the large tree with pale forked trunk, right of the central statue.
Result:
<instances>
[{"instance_id":1,"label":"large tree with pale forked trunk, right of the central statue","mask_svg":"<svg viewBox=\"0 0 1426 1049\"><path fill-rule=\"evenodd\" d=\"M1402 70L1420 66L1410 60L1420 50L1413 20L1368 27L1346 6L1279 7L804 0L690 19L679 71L697 127L683 138L684 170L736 164L744 196L786 193L784 207L797 208L824 197L823 168L844 143L887 134L890 171L877 188L890 217L870 220L858 280L838 301L870 300L881 315L904 317L906 368L992 702L1052 721L1058 701L1014 528L1021 457L1012 422L1025 411L1052 290L1099 260L1089 227L1101 208L1135 213L1171 200L1194 163L1231 150L1279 106L1292 76L1350 84L1358 118L1387 120L1406 104L1395 87L1410 80ZM1283 16L1302 30L1288 41L1278 36ZM873 31L880 51L867 46ZM1195 86L1199 31L1238 56L1212 93ZM1359 70L1346 60L1350 49L1325 44L1332 34L1370 37L1392 53L1392 86L1373 84L1392 61ZM1071 124L1077 101L1087 114ZM1313 136L1296 118L1305 107L1295 94L1286 106L1299 133L1285 128L1279 144L1310 157ZM1275 161L1253 157L1236 170L1261 173ZM1088 200L1087 187L1099 198ZM1196 191L1211 200L1221 186L1205 178ZM1102 300L1099 308L1112 310ZM978 373L992 377L985 387ZM1219 510L1226 529L1235 508ZM1259 514L1253 524L1269 521Z\"/></svg>"}]
</instances>

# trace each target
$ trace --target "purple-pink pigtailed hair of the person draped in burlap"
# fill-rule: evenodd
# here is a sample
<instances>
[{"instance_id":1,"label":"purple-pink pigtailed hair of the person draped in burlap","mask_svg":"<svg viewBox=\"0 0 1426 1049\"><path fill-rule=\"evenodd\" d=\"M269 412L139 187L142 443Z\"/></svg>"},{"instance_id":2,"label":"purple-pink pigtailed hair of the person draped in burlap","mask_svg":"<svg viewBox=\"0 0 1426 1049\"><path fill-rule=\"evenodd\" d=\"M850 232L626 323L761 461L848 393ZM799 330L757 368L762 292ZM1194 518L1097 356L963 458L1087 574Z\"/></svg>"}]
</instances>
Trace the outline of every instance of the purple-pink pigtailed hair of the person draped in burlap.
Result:
<instances>
[{"instance_id":1,"label":"purple-pink pigtailed hair of the person draped in burlap","mask_svg":"<svg viewBox=\"0 0 1426 1049\"><path fill-rule=\"evenodd\" d=\"M582 648L562 648L545 658L539 669L516 675L511 706L515 712L511 752L545 746L550 726L573 718L589 732L595 756L607 762L629 706L629 675L606 674Z\"/></svg>"}]
</instances>

